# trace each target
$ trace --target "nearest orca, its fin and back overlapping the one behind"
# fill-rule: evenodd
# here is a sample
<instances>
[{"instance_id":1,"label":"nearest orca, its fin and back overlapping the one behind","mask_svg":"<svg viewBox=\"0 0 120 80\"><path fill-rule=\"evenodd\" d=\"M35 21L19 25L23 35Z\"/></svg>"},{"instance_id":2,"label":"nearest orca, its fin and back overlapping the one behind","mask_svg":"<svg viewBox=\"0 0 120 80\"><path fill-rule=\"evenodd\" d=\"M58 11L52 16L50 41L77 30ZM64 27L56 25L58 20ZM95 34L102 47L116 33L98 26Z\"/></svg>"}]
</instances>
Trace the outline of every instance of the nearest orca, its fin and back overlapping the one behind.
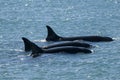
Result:
<instances>
[{"instance_id":1,"label":"nearest orca, its fin and back overlapping the one behind","mask_svg":"<svg viewBox=\"0 0 120 80\"><path fill-rule=\"evenodd\" d=\"M22 38L24 40L24 38ZM50 49L43 49L41 47L38 47L35 43L29 41L27 44L30 45L30 48L32 50L32 57L37 57L42 54L53 54L53 53L58 53L58 52L66 52L70 54L75 54L78 52L82 53L92 53L91 50L86 49L86 48L80 48L80 47L75 47L75 46L63 46L63 47L54 47Z\"/></svg>"}]
</instances>

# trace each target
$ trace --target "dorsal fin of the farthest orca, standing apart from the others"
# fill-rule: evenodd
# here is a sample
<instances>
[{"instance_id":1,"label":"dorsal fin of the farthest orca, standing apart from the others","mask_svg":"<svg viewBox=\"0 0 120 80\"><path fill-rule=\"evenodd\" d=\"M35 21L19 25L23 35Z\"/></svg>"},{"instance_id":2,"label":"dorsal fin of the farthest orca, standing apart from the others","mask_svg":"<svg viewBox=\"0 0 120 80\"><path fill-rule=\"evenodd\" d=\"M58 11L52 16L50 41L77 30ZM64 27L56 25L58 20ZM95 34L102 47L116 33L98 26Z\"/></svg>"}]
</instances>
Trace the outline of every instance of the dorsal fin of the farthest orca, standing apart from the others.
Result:
<instances>
[{"instance_id":1,"label":"dorsal fin of the farthest orca, standing apart from the others","mask_svg":"<svg viewBox=\"0 0 120 80\"><path fill-rule=\"evenodd\" d=\"M46 38L47 41L58 41L61 38L53 31L53 29L50 26L47 25L46 27L48 31L47 38Z\"/></svg>"}]
</instances>

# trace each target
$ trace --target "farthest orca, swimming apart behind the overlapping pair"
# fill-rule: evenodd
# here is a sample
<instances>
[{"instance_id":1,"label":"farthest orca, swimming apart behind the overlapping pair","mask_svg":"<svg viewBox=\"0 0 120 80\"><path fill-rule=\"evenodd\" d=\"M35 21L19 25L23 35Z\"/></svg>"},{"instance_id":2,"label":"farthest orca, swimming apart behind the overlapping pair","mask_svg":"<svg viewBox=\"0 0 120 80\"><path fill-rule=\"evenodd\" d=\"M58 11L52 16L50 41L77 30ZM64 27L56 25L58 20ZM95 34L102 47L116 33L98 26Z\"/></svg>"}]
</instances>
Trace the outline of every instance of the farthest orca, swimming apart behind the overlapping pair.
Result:
<instances>
[{"instance_id":1,"label":"farthest orca, swimming apart behind the overlapping pair","mask_svg":"<svg viewBox=\"0 0 120 80\"><path fill-rule=\"evenodd\" d=\"M110 37L103 37L103 36L79 36L79 37L61 37L58 36L50 26L46 26L48 35L46 40L47 41L73 41L73 40L83 40L83 41L90 41L90 42L109 42L113 41Z\"/></svg>"}]
</instances>

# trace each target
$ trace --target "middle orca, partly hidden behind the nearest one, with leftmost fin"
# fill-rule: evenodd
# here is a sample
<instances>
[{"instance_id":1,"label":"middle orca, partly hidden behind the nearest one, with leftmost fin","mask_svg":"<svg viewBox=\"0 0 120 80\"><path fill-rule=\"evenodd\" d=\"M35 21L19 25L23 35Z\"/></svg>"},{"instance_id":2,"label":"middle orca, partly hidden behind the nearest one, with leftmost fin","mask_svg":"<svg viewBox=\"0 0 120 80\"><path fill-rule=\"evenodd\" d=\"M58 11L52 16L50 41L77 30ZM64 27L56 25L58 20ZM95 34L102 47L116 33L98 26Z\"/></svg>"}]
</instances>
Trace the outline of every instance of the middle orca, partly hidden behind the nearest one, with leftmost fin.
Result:
<instances>
[{"instance_id":1,"label":"middle orca, partly hidden behind the nearest one, with leftmost fin","mask_svg":"<svg viewBox=\"0 0 120 80\"><path fill-rule=\"evenodd\" d=\"M31 51L31 41L28 40L25 37L22 37L22 40L24 42L25 46L25 51ZM92 48L93 46L88 44L88 43L81 43L80 41L65 41L65 42L60 42L60 43L53 43L48 46L43 46L41 48L43 49L49 49L49 48L54 48L54 47L62 47L62 46L75 46L75 47L84 47L84 48Z\"/></svg>"}]
</instances>

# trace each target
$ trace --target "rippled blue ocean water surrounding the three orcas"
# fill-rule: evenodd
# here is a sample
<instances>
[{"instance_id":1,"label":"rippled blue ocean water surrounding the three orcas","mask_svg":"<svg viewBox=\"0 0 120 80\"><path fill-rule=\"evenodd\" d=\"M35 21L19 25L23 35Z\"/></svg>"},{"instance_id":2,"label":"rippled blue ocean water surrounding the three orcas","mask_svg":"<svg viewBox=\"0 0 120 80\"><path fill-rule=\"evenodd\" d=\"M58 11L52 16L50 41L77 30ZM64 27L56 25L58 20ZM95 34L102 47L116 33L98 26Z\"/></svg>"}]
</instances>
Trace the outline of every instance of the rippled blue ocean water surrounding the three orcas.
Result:
<instances>
[{"instance_id":1,"label":"rippled blue ocean water surrounding the three orcas","mask_svg":"<svg viewBox=\"0 0 120 80\"><path fill-rule=\"evenodd\" d=\"M46 25L61 36L100 35L92 54L24 52L21 37L39 46ZM0 0L0 80L120 80L119 0Z\"/></svg>"}]
</instances>

